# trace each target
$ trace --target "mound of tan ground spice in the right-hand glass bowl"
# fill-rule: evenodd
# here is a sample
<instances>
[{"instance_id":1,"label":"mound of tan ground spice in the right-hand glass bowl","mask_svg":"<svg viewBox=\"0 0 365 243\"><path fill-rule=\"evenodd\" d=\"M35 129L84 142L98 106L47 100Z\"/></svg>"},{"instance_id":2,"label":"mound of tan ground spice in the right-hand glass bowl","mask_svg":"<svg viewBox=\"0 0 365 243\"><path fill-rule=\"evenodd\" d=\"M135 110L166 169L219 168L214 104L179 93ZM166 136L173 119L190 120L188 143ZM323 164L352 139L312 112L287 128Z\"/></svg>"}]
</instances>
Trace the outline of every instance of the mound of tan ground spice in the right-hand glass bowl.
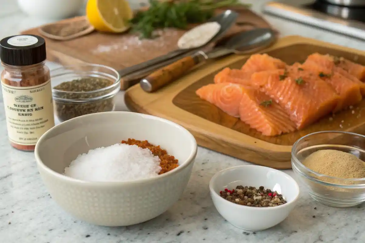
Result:
<instances>
[{"instance_id":1,"label":"mound of tan ground spice in the right-hand glass bowl","mask_svg":"<svg viewBox=\"0 0 365 243\"><path fill-rule=\"evenodd\" d=\"M365 162L354 154L339 150L318 150L303 165L314 172L339 178L365 178Z\"/></svg>"}]
</instances>

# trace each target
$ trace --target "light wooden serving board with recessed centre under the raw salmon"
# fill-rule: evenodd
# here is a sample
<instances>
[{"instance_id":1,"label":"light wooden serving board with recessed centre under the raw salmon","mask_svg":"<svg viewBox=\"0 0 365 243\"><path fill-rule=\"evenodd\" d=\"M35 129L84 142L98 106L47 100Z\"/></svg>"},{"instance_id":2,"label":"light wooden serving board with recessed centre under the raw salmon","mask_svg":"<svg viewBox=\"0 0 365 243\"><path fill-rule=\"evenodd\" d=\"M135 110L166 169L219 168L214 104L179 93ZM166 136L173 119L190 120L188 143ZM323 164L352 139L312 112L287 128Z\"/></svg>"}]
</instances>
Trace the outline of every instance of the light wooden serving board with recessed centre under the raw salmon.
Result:
<instances>
[{"instance_id":1,"label":"light wooden serving board with recessed centre under the raw salmon","mask_svg":"<svg viewBox=\"0 0 365 243\"><path fill-rule=\"evenodd\" d=\"M364 51L300 36L282 38L263 52L288 64L302 62L308 55L319 52L343 56L365 65ZM206 64L156 93L146 93L136 85L126 91L126 105L132 111L163 117L184 126L200 146L278 169L291 168L292 145L309 133L343 130L364 134L365 100L353 109L341 111L334 117L325 117L306 129L266 137L195 94L201 86L213 83L214 75L224 67L240 68L248 57L232 55Z\"/></svg>"}]
</instances>

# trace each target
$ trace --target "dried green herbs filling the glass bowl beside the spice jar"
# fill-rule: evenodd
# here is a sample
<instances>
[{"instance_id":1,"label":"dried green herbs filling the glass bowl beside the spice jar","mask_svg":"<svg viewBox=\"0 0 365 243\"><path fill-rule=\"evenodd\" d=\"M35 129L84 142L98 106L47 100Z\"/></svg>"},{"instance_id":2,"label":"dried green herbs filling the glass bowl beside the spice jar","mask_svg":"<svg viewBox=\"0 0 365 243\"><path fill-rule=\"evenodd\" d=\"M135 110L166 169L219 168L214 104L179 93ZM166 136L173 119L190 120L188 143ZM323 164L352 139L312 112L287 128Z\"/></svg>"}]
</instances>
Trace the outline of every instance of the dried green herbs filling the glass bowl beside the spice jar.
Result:
<instances>
[{"instance_id":1,"label":"dried green herbs filling the glass bowl beside the spice jar","mask_svg":"<svg viewBox=\"0 0 365 243\"><path fill-rule=\"evenodd\" d=\"M113 81L105 78L87 77L63 82L53 87L55 90L70 92L59 92L58 94L58 98L70 99L69 102L54 101L56 114L59 120L67 121L81 115L114 110L114 97L103 98L103 95L107 95L111 92L107 87L111 86L113 83ZM96 90L100 91L87 93ZM100 99L98 99L98 97L100 97ZM95 98L96 100L91 100Z\"/></svg>"}]
</instances>

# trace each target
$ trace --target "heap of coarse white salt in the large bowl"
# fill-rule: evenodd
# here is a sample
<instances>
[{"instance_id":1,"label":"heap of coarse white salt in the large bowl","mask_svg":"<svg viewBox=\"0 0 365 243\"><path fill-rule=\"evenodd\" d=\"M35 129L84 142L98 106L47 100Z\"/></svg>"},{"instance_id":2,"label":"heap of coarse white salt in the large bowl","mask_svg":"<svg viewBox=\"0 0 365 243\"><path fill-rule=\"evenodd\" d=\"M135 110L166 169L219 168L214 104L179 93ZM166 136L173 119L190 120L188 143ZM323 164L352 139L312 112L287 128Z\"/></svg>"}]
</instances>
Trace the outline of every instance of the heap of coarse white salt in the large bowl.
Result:
<instances>
[{"instance_id":1,"label":"heap of coarse white salt in the large bowl","mask_svg":"<svg viewBox=\"0 0 365 243\"><path fill-rule=\"evenodd\" d=\"M115 144L80 154L65 175L84 181L134 181L158 176L160 158L137 145Z\"/></svg>"}]
</instances>

